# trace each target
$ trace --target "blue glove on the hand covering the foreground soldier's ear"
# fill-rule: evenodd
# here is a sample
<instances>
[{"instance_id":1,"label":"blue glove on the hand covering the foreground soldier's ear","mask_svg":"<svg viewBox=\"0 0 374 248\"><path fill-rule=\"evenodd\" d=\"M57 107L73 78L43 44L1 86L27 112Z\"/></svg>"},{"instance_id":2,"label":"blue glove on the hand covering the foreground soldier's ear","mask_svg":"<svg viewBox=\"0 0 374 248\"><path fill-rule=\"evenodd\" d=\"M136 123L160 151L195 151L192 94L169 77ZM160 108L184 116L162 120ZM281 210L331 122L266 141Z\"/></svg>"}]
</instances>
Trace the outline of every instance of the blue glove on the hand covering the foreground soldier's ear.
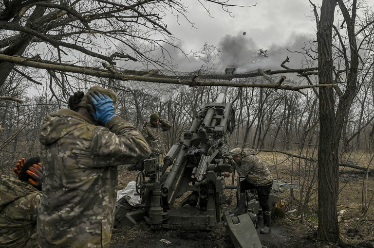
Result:
<instances>
[{"instance_id":1,"label":"blue glove on the hand covering the foreground soldier's ear","mask_svg":"<svg viewBox=\"0 0 374 248\"><path fill-rule=\"evenodd\" d=\"M105 125L115 116L113 100L110 97L96 90L90 92L87 97L91 103L87 105L87 109L95 121Z\"/></svg>"}]
</instances>

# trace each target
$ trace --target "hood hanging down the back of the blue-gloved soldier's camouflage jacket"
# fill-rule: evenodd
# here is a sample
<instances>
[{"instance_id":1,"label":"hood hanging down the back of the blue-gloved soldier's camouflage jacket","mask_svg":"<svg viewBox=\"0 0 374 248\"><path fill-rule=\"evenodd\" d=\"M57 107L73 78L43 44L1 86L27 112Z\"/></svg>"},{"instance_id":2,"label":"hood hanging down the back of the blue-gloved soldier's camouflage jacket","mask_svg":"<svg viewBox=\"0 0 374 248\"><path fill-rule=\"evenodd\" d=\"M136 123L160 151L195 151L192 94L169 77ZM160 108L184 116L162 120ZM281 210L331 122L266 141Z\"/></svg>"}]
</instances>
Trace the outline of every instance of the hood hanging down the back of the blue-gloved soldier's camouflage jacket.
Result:
<instances>
[{"instance_id":1,"label":"hood hanging down the back of the blue-gloved soldier's camouflage jacket","mask_svg":"<svg viewBox=\"0 0 374 248\"><path fill-rule=\"evenodd\" d=\"M61 109L44 118L39 140L43 145L51 145L83 125L95 125L88 118L70 109Z\"/></svg>"}]
</instances>

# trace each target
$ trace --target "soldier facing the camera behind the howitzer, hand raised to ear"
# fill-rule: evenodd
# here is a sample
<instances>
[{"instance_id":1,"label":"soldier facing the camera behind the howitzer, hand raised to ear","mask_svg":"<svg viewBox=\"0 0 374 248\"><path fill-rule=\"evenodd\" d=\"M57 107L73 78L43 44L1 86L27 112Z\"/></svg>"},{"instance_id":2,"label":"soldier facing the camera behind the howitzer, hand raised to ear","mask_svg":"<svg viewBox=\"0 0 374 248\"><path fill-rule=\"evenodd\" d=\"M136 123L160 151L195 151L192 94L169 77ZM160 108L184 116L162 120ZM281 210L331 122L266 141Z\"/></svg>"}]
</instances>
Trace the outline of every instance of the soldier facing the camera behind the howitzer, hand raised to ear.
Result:
<instances>
[{"instance_id":1,"label":"soldier facing the camera behind the howitzer, hand raised to ear","mask_svg":"<svg viewBox=\"0 0 374 248\"><path fill-rule=\"evenodd\" d=\"M155 158L157 162L160 162L160 154L164 152L163 132L168 131L170 128L170 122L167 119L160 119L157 113L151 114L150 121L143 125L142 134L152 149L150 157Z\"/></svg>"}]
</instances>

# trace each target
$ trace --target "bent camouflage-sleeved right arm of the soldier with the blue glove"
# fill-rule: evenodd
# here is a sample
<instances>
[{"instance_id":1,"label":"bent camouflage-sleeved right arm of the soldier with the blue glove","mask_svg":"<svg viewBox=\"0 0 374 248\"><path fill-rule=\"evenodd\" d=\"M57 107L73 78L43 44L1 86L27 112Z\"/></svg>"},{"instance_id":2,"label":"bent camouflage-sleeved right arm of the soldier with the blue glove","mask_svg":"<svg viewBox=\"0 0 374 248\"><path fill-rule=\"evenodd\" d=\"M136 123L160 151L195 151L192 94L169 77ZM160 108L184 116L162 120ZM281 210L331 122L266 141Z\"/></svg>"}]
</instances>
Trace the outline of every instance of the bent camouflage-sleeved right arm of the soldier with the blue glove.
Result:
<instances>
[{"instance_id":1,"label":"bent camouflage-sleeved right arm of the soldier with the blue glove","mask_svg":"<svg viewBox=\"0 0 374 248\"><path fill-rule=\"evenodd\" d=\"M105 127L97 126L93 131L91 154L96 166L137 163L148 158L150 152L143 135L118 116L112 117Z\"/></svg>"}]
</instances>

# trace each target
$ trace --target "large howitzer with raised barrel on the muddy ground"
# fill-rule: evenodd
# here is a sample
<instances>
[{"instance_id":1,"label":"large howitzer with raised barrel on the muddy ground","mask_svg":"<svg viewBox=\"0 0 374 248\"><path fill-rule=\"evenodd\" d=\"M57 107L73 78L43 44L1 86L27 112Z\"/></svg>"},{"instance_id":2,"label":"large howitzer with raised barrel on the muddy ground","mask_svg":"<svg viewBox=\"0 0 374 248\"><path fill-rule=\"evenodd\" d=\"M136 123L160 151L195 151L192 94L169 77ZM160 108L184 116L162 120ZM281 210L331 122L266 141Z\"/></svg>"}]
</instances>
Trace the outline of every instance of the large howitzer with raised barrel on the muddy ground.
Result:
<instances>
[{"instance_id":1,"label":"large howitzer with raised barrel on the muddy ground","mask_svg":"<svg viewBox=\"0 0 374 248\"><path fill-rule=\"evenodd\" d=\"M234 185L234 179L226 185L222 176L232 171L226 138L235 127L232 104L225 101L226 91L227 87L223 87L215 102L200 106L191 127L168 151L163 165L152 159L145 161L144 171L136 180L143 207L139 211L145 210L144 218L154 230L226 227L235 247L262 248L255 229L258 207L254 213L256 208L248 202L248 213L239 216L224 211L239 185ZM225 189L231 189L230 197L225 196ZM180 199L177 208L173 207L176 199ZM259 205L256 199L250 200ZM131 218L131 213L128 215Z\"/></svg>"}]
</instances>

